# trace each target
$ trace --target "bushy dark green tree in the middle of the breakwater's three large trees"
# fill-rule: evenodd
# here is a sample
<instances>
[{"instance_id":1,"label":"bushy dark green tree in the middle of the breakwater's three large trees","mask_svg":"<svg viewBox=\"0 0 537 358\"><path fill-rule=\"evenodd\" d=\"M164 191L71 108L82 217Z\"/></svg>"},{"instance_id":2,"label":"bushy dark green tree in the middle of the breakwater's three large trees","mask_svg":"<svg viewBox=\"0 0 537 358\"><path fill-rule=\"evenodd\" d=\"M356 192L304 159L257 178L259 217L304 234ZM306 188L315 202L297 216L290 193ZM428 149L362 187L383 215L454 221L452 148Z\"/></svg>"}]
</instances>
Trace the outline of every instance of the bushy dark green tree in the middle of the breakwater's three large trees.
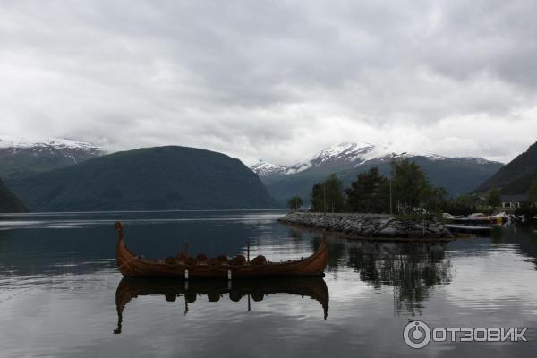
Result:
<instances>
[{"instance_id":1,"label":"bushy dark green tree in the middle of the breakwater's three large trees","mask_svg":"<svg viewBox=\"0 0 537 358\"><path fill-rule=\"evenodd\" d=\"M347 208L354 212L387 212L389 210L388 179L379 175L379 168L374 166L361 173L345 189Z\"/></svg>"}]
</instances>

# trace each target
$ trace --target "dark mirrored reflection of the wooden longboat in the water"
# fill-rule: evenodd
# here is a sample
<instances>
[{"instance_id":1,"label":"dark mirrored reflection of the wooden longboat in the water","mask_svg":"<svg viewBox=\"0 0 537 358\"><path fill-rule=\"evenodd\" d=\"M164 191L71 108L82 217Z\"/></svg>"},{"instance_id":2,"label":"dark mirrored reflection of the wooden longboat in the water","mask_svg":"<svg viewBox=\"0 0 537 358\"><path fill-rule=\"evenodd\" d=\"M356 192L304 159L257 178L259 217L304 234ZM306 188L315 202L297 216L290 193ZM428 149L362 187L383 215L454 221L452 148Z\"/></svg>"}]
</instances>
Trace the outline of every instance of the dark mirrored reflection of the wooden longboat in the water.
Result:
<instances>
[{"instance_id":1,"label":"dark mirrored reflection of the wooden longboat in the water","mask_svg":"<svg viewBox=\"0 0 537 358\"><path fill-rule=\"evenodd\" d=\"M329 294L322 277L244 278L230 281L124 277L115 290L117 328L114 333L120 334L122 331L123 311L127 303L138 296L158 294L164 295L168 302L174 302L182 297L184 314L189 311L189 303L194 303L200 295L207 295L209 302L215 303L220 301L224 294L234 302L239 302L244 297L248 300L248 311L250 311L251 300L259 302L269 294L296 294L318 301L322 306L324 319L328 317Z\"/></svg>"}]
</instances>

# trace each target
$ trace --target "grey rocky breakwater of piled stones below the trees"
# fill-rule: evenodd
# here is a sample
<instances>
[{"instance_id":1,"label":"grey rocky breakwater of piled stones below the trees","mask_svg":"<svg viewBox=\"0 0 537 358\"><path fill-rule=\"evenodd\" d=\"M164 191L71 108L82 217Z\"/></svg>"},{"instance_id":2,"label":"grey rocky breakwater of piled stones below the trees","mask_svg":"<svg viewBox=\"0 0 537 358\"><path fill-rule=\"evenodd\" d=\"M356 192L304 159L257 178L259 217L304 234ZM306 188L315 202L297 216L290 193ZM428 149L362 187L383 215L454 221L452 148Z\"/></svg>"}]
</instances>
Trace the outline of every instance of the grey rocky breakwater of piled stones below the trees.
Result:
<instances>
[{"instance_id":1,"label":"grey rocky breakwater of piled stones below the trees","mask_svg":"<svg viewBox=\"0 0 537 358\"><path fill-rule=\"evenodd\" d=\"M382 214L312 213L294 211L279 222L356 238L451 238L442 223L401 219Z\"/></svg>"}]
</instances>

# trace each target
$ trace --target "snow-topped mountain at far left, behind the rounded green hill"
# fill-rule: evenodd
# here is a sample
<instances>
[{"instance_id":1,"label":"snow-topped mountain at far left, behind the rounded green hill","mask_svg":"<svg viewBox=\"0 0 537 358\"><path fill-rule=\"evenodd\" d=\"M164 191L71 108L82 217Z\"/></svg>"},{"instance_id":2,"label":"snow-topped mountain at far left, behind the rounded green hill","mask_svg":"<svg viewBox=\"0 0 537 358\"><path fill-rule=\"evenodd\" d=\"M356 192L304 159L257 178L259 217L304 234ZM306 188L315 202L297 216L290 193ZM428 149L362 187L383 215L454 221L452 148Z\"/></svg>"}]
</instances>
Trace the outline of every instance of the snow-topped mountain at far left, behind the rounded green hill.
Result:
<instances>
[{"instance_id":1,"label":"snow-topped mountain at far left, behind the rounded green hill","mask_svg":"<svg viewBox=\"0 0 537 358\"><path fill-rule=\"evenodd\" d=\"M103 149L82 141L0 136L0 177L30 175L77 164L103 154Z\"/></svg>"}]
</instances>

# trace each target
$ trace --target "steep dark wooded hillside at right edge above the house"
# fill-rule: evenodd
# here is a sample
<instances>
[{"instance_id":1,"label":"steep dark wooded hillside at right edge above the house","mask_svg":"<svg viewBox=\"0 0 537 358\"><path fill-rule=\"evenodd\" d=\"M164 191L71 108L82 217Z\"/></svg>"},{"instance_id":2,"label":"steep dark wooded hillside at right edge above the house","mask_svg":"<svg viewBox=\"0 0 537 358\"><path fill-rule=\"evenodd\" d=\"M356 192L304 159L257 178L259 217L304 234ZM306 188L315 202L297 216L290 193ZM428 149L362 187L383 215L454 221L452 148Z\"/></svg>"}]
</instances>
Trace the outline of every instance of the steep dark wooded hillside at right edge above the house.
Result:
<instances>
[{"instance_id":1,"label":"steep dark wooded hillside at right edge above the house","mask_svg":"<svg viewBox=\"0 0 537 358\"><path fill-rule=\"evenodd\" d=\"M524 153L517 156L509 164L482 183L476 192L487 192L493 186L500 188L503 194L524 194L530 188L533 179L537 178L537 142L533 143Z\"/></svg>"}]
</instances>

